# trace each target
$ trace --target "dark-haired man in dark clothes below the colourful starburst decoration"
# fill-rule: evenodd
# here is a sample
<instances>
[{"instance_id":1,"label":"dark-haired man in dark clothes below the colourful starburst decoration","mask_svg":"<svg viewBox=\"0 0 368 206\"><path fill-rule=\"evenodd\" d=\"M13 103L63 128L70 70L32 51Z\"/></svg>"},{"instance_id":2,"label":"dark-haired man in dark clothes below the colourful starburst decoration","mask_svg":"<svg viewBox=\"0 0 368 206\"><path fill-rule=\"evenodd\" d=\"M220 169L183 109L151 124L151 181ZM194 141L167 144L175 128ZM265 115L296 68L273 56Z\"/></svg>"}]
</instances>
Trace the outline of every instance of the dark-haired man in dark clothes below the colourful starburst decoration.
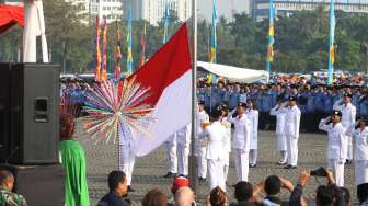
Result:
<instances>
[{"instance_id":1,"label":"dark-haired man in dark clothes below the colourful starburst decoration","mask_svg":"<svg viewBox=\"0 0 368 206\"><path fill-rule=\"evenodd\" d=\"M112 171L108 174L107 182L110 193L102 197L97 206L128 206L128 204L122 199L128 192L125 173L122 171Z\"/></svg>"}]
</instances>

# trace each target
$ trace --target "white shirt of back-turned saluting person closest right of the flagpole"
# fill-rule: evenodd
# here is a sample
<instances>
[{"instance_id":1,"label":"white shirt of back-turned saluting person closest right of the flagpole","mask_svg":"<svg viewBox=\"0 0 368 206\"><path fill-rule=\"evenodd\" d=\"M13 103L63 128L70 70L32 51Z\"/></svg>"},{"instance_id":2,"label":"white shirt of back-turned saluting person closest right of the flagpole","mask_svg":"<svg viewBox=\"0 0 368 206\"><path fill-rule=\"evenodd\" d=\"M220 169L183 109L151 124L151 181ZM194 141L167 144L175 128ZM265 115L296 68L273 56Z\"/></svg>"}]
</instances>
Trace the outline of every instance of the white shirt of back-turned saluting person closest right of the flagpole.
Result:
<instances>
[{"instance_id":1,"label":"white shirt of back-turned saluting person closest right of the flagpole","mask_svg":"<svg viewBox=\"0 0 368 206\"><path fill-rule=\"evenodd\" d=\"M225 150L223 144L227 138L227 129L219 121L211 123L199 135L200 138L208 139L207 159L208 160L223 160Z\"/></svg>"}]
</instances>

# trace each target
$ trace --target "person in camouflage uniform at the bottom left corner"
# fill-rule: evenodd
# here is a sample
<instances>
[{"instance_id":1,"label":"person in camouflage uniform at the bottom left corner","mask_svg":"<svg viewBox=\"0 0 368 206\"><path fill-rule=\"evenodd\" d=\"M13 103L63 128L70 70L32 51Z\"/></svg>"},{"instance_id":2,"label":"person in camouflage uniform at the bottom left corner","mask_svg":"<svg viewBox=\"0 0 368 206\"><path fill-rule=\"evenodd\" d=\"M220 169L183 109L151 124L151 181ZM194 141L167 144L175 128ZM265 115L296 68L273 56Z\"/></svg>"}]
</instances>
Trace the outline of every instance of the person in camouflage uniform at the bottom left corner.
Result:
<instances>
[{"instance_id":1,"label":"person in camouflage uniform at the bottom left corner","mask_svg":"<svg viewBox=\"0 0 368 206\"><path fill-rule=\"evenodd\" d=\"M13 193L14 176L8 170L0 170L0 205L1 206L26 206L24 197Z\"/></svg>"}]
</instances>

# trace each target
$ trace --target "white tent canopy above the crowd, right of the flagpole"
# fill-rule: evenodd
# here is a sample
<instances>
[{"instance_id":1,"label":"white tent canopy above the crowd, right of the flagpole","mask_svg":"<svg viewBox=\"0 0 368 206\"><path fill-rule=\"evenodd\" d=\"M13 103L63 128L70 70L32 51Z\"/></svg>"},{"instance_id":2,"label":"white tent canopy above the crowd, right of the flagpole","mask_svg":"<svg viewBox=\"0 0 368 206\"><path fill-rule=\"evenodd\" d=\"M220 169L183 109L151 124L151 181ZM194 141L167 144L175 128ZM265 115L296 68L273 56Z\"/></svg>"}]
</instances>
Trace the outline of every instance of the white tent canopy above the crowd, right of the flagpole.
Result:
<instances>
[{"instance_id":1,"label":"white tent canopy above the crowd, right of the flagpole","mask_svg":"<svg viewBox=\"0 0 368 206\"><path fill-rule=\"evenodd\" d=\"M227 65L218 65L198 61L198 67L207 70L208 72L215 73L217 76L223 77L230 81L240 82L240 83L254 83L261 82L266 83L268 80L268 72L254 70L254 69L244 69L239 67L232 67Z\"/></svg>"}]
</instances>

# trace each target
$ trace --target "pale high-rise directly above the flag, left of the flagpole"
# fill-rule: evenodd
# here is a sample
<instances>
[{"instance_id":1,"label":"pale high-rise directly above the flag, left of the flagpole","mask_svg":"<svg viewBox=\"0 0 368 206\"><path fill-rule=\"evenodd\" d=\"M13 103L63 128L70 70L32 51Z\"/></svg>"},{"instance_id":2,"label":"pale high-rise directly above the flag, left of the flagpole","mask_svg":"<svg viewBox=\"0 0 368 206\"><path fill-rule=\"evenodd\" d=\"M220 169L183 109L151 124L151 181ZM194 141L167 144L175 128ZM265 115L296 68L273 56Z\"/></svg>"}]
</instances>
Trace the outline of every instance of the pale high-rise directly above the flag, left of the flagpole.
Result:
<instances>
[{"instance_id":1,"label":"pale high-rise directly above the flag, left of the flagpole","mask_svg":"<svg viewBox=\"0 0 368 206\"><path fill-rule=\"evenodd\" d=\"M185 22L192 16L192 0L124 0L123 4L126 14L131 7L134 20L146 20L158 25L163 19L166 3L177 21Z\"/></svg>"}]
</instances>

